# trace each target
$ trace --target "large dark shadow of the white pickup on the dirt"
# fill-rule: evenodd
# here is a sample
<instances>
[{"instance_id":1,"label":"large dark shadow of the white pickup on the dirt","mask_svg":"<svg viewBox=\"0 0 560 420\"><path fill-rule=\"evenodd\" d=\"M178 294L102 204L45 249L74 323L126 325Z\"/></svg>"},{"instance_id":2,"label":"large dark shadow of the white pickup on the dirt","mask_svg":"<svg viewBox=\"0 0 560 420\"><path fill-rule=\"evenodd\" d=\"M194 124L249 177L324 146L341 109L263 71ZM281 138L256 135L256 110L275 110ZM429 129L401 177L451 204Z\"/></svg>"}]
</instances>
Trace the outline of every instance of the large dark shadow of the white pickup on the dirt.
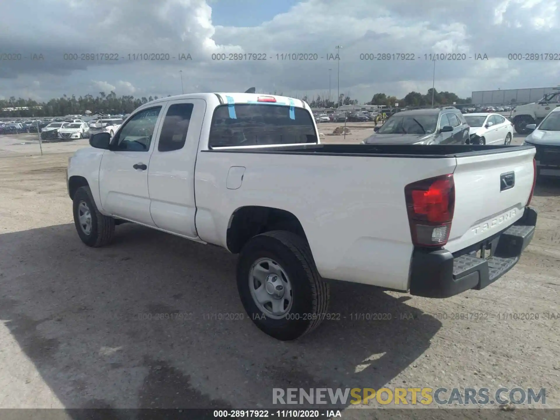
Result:
<instances>
[{"instance_id":1,"label":"large dark shadow of the white pickup on the dirt","mask_svg":"<svg viewBox=\"0 0 560 420\"><path fill-rule=\"evenodd\" d=\"M273 388L378 389L441 326L336 283L340 319L279 342L247 319L235 255L129 224L116 236L91 249L70 224L0 235L0 316L67 408L271 408Z\"/></svg>"}]
</instances>

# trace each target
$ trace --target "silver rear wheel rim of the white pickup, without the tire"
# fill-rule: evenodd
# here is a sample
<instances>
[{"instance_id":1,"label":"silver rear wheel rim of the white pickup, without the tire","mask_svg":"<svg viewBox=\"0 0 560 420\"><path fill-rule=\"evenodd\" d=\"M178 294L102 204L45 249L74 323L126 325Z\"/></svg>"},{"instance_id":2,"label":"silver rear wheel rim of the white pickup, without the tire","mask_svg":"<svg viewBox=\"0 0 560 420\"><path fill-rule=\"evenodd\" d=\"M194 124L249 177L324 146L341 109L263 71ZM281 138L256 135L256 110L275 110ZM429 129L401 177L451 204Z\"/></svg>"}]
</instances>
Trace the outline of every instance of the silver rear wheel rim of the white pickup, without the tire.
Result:
<instances>
[{"instance_id":1,"label":"silver rear wheel rim of the white pickup, without the tire","mask_svg":"<svg viewBox=\"0 0 560 420\"><path fill-rule=\"evenodd\" d=\"M249 290L256 306L273 319L292 308L292 286L284 269L269 258L255 261L249 270Z\"/></svg>"}]
</instances>

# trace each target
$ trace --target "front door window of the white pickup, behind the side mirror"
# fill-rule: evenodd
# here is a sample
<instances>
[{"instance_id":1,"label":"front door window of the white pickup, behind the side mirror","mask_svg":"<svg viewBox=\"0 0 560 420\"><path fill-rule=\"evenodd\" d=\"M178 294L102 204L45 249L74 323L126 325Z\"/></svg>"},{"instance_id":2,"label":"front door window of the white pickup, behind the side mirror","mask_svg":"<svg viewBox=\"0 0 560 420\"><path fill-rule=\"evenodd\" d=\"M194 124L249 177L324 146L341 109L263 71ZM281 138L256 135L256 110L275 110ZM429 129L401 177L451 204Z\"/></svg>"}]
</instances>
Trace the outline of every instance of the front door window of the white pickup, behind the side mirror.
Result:
<instances>
[{"instance_id":1,"label":"front door window of the white pickup, behind the side mirror","mask_svg":"<svg viewBox=\"0 0 560 420\"><path fill-rule=\"evenodd\" d=\"M113 137L115 151L147 152L150 150L153 132L161 106L144 109L128 120Z\"/></svg>"}]
</instances>

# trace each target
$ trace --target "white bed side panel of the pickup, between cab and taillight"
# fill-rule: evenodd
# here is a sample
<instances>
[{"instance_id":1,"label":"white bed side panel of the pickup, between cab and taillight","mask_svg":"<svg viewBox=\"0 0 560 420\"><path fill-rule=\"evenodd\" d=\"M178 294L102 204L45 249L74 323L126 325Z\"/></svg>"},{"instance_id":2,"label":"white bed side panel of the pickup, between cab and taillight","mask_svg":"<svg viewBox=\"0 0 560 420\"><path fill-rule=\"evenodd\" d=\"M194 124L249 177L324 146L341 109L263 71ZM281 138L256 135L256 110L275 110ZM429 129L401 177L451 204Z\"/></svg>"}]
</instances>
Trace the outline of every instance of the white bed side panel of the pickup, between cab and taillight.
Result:
<instances>
[{"instance_id":1,"label":"white bed side panel of the pickup, between cab and taillight","mask_svg":"<svg viewBox=\"0 0 560 420\"><path fill-rule=\"evenodd\" d=\"M201 151L195 170L196 225L202 240L227 248L236 209L293 213L321 276L407 290L413 245L404 186L453 172L455 158L296 155ZM226 188L231 166L241 187Z\"/></svg>"}]
</instances>

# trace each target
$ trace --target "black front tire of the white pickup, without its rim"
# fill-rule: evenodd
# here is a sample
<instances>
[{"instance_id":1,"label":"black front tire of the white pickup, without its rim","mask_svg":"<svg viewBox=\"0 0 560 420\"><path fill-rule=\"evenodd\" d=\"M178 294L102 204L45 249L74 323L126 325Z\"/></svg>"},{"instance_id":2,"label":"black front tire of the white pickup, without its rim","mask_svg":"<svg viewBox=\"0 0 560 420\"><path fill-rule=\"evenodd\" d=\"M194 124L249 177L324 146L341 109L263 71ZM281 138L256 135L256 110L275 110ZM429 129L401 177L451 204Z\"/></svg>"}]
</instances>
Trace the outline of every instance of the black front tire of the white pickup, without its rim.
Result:
<instances>
[{"instance_id":1,"label":"black front tire of the white pickup, without its rim","mask_svg":"<svg viewBox=\"0 0 560 420\"><path fill-rule=\"evenodd\" d=\"M78 218L78 207L81 202L85 202L87 207L90 209L91 214L91 231L89 234L82 229L80 226L80 220ZM90 187L82 186L78 188L74 194L73 199L73 213L74 213L74 225L76 226L76 231L78 236L84 244L87 246L92 246L94 248L108 245L115 233L115 220L113 217L104 216L99 212L97 206L95 205L95 200L91 195Z\"/></svg>"}]
</instances>

